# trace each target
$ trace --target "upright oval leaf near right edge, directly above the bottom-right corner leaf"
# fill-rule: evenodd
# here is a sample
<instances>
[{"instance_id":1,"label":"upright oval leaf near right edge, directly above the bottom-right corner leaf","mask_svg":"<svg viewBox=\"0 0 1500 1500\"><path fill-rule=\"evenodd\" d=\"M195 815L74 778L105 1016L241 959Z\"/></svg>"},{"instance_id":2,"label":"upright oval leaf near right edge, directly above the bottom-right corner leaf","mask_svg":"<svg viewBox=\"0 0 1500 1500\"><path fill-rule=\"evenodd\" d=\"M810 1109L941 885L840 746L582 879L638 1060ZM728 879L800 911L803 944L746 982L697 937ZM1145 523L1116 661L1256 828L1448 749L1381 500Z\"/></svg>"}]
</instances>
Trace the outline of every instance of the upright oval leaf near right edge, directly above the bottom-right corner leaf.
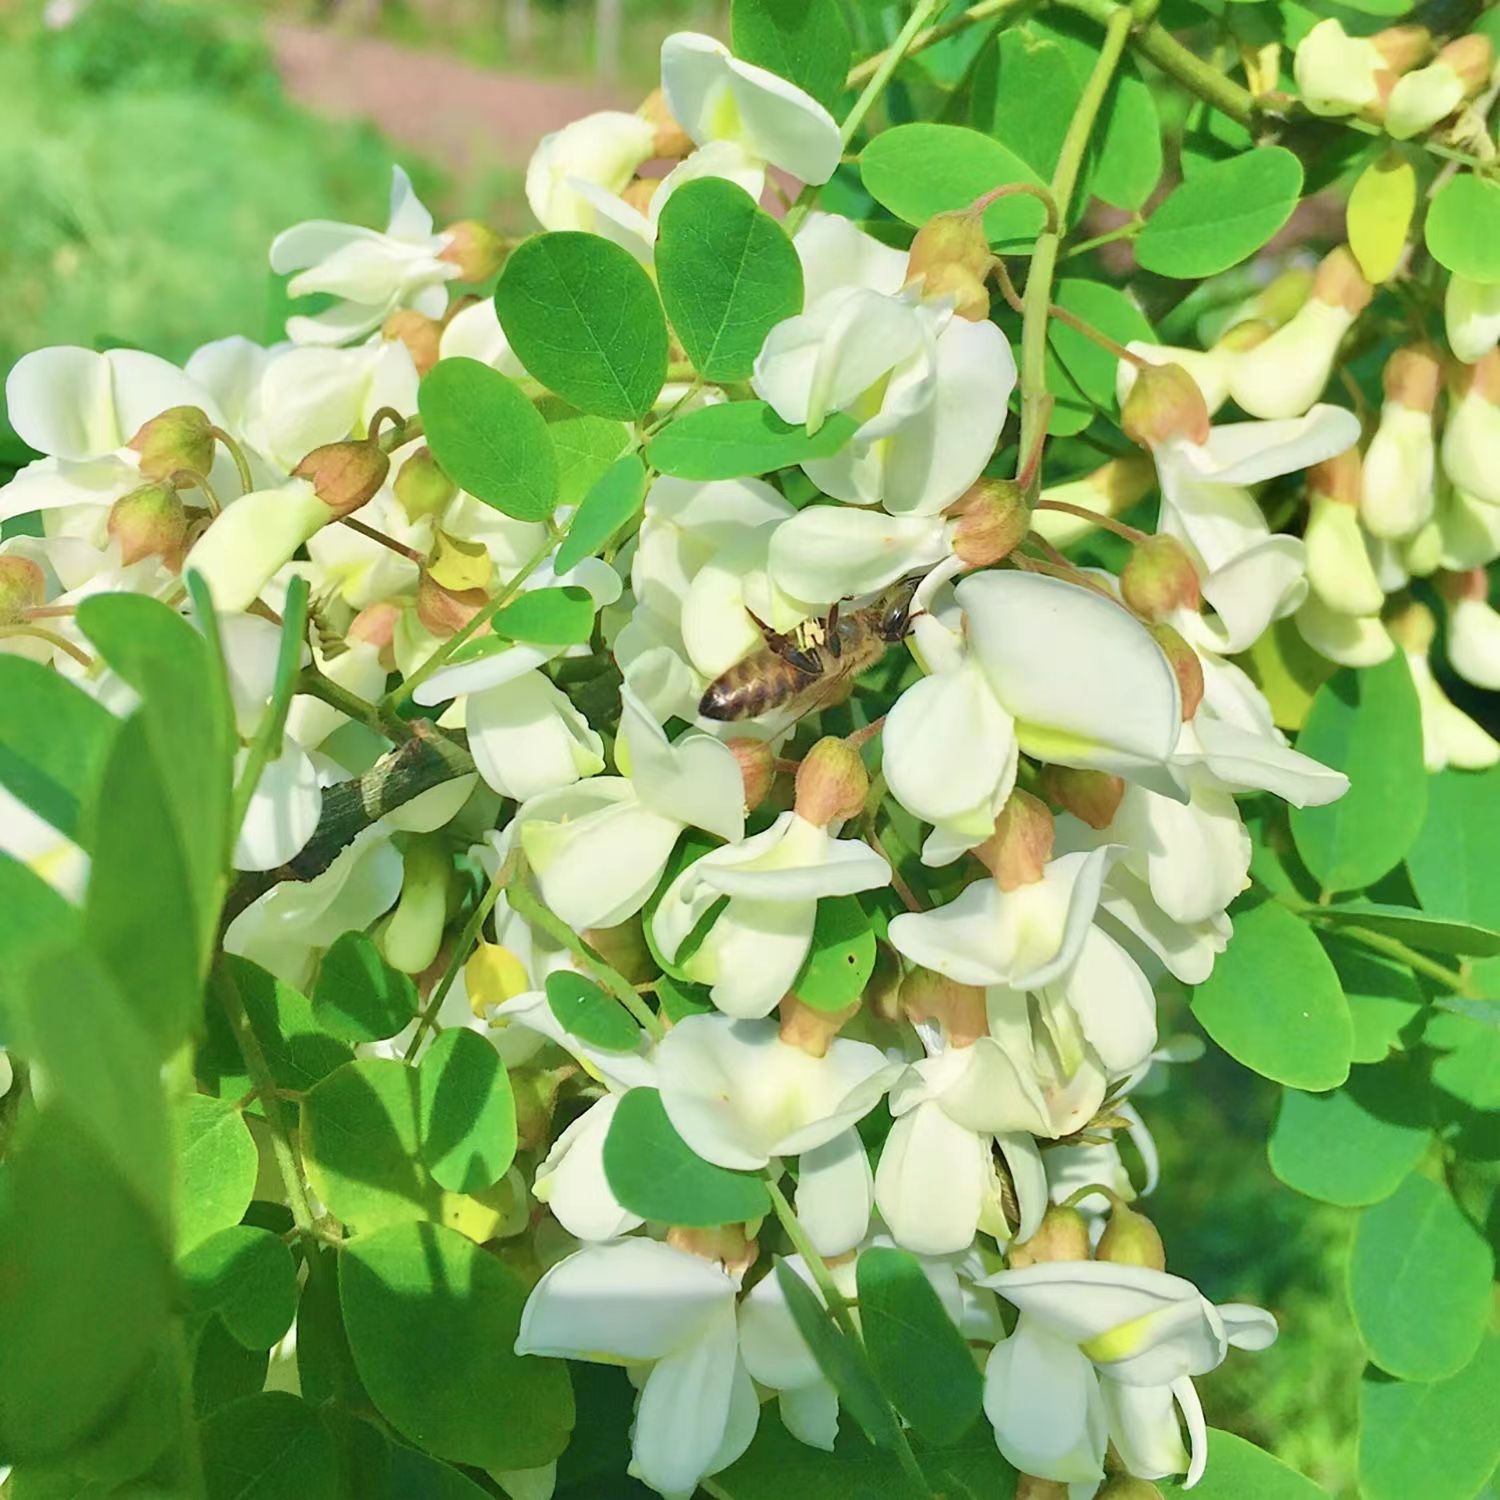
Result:
<instances>
[{"instance_id":1,"label":"upright oval leaf near right edge, directly above the bottom-right corner leaf","mask_svg":"<svg viewBox=\"0 0 1500 1500\"><path fill-rule=\"evenodd\" d=\"M1360 1214L1348 1305L1370 1358L1401 1380L1446 1380L1479 1348L1494 1257L1446 1188L1410 1176Z\"/></svg>"}]
</instances>

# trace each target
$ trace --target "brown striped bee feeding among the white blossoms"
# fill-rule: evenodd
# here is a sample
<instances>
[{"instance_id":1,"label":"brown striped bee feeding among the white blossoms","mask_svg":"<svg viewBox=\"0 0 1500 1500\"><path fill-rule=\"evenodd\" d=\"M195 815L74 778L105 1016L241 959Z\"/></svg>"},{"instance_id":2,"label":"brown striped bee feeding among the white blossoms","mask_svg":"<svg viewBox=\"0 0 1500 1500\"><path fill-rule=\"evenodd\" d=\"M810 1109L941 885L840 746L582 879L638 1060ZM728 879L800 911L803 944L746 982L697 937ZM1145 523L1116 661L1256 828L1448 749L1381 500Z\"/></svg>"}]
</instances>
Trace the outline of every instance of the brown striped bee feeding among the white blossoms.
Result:
<instances>
[{"instance_id":1,"label":"brown striped bee feeding among the white blossoms","mask_svg":"<svg viewBox=\"0 0 1500 1500\"><path fill-rule=\"evenodd\" d=\"M708 684L698 705L704 718L732 723L780 712L795 723L837 702L838 692L885 656L909 626L921 576L904 578L862 609L838 604L822 620L780 634L765 624L765 645Z\"/></svg>"}]
</instances>

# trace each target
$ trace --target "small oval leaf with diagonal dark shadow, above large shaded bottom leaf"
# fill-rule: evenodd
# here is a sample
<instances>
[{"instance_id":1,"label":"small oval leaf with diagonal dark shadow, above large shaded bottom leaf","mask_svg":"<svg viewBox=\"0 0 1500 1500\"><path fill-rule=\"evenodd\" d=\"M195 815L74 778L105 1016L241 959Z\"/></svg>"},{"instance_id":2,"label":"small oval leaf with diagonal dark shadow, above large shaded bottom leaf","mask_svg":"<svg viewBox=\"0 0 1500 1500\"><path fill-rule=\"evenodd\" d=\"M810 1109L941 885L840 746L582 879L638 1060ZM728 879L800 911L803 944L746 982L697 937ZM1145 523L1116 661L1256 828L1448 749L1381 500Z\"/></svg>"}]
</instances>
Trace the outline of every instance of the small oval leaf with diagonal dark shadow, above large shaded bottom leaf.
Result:
<instances>
[{"instance_id":1,"label":"small oval leaf with diagonal dark shadow, above large shaded bottom leaf","mask_svg":"<svg viewBox=\"0 0 1500 1500\"><path fill-rule=\"evenodd\" d=\"M450 1192L482 1192L516 1160L516 1101L500 1053L466 1026L438 1032L417 1068L422 1160Z\"/></svg>"}]
</instances>

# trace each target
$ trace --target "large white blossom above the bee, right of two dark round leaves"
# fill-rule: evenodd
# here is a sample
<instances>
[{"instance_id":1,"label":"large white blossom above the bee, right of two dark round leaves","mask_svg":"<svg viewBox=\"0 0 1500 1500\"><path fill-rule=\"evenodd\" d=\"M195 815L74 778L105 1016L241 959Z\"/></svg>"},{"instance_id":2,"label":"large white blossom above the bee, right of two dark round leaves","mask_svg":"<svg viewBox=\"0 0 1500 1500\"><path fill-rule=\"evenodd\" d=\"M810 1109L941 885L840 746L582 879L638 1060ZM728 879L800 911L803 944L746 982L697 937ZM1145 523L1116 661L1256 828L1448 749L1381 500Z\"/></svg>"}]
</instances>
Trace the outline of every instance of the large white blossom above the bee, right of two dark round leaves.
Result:
<instances>
[{"instance_id":1,"label":"large white blossom above the bee, right of two dark round leaves","mask_svg":"<svg viewBox=\"0 0 1500 1500\"><path fill-rule=\"evenodd\" d=\"M834 411L860 422L843 452L802 465L824 494L898 516L944 510L999 441L1016 386L1005 334L903 290L906 258L848 219L808 220L796 250L807 310L766 336L756 394L808 430Z\"/></svg>"}]
</instances>

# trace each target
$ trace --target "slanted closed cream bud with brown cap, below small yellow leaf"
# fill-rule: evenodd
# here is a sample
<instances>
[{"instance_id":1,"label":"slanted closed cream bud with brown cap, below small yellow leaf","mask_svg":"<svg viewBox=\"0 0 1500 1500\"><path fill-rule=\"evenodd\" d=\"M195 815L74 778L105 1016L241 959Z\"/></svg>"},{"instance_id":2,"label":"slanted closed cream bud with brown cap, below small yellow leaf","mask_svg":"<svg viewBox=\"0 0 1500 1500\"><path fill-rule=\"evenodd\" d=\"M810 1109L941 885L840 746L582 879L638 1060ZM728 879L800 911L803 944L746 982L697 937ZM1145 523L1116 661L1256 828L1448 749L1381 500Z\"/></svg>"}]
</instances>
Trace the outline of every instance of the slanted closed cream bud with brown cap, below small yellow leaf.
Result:
<instances>
[{"instance_id":1,"label":"slanted closed cream bud with brown cap, below small yellow leaf","mask_svg":"<svg viewBox=\"0 0 1500 1500\"><path fill-rule=\"evenodd\" d=\"M1234 363L1230 394L1252 417L1300 417L1323 394L1338 346L1372 296L1348 246L1329 250L1302 308Z\"/></svg>"}]
</instances>

